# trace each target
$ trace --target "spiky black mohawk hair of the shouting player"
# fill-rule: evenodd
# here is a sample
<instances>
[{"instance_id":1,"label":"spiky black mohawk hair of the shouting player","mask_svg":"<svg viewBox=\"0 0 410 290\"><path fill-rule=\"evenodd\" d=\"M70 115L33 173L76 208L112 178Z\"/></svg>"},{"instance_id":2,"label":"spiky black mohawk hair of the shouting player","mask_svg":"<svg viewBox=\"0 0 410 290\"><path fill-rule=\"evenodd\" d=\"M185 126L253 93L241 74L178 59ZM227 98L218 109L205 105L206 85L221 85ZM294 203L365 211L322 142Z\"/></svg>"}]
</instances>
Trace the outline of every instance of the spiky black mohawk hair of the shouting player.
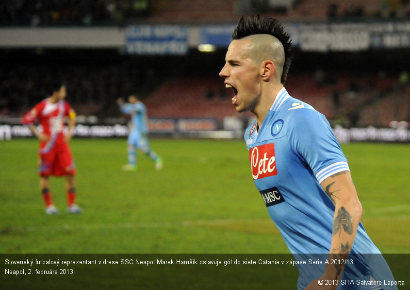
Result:
<instances>
[{"instance_id":1,"label":"spiky black mohawk hair of the shouting player","mask_svg":"<svg viewBox=\"0 0 410 290\"><path fill-rule=\"evenodd\" d=\"M284 84L294 55L289 34L283 30L283 26L277 19L272 17L260 19L258 14L257 16L251 16L246 19L241 17L233 31L232 39L241 39L254 34L270 34L278 38L282 43L285 51L285 63L283 65L280 83Z\"/></svg>"}]
</instances>

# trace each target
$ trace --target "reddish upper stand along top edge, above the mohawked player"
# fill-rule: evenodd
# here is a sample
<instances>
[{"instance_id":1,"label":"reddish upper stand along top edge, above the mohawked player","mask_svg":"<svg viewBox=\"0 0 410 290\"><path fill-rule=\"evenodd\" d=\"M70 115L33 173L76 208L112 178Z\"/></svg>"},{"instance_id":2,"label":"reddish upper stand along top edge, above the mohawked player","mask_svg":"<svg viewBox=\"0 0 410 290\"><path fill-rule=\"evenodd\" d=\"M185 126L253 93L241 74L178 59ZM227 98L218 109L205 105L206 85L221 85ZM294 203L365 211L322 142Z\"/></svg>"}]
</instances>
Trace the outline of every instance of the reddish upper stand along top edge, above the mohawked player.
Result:
<instances>
[{"instance_id":1,"label":"reddish upper stand along top edge, above the mohawked player","mask_svg":"<svg viewBox=\"0 0 410 290\"><path fill-rule=\"evenodd\" d=\"M291 4L287 5L287 9L275 9L275 1L258 0L169 0L162 2L163 4L152 12L150 20L235 22L242 14L254 13L292 21L343 21L346 19L357 20L362 17L389 18L410 15L410 3L401 0L292 0ZM269 5L271 2L272 5Z\"/></svg>"}]
</instances>

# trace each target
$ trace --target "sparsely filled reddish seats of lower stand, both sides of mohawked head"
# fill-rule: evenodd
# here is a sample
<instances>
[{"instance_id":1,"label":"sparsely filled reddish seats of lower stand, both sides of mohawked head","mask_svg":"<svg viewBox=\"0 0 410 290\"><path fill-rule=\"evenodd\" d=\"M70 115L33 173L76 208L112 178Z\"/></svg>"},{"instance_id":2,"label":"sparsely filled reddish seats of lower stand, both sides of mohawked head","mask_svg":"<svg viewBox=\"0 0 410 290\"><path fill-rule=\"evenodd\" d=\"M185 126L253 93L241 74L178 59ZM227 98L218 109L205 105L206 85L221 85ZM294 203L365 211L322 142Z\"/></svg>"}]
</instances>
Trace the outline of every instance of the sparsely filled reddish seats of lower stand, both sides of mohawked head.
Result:
<instances>
[{"instance_id":1,"label":"sparsely filled reddish seats of lower stand, both sides of mohawked head","mask_svg":"<svg viewBox=\"0 0 410 290\"><path fill-rule=\"evenodd\" d=\"M344 126L387 126L395 118L408 119L410 86L406 85L400 92L394 89L396 86L397 77L354 78L348 74L335 76L335 82L328 85L317 85L308 73L289 76L286 83L291 95ZM337 100L335 92L338 92ZM397 102L401 103L400 114L375 111L392 108ZM225 116L238 116L230 102L230 90L216 77L169 79L150 94L146 104L152 117L212 117L221 121Z\"/></svg>"}]
</instances>

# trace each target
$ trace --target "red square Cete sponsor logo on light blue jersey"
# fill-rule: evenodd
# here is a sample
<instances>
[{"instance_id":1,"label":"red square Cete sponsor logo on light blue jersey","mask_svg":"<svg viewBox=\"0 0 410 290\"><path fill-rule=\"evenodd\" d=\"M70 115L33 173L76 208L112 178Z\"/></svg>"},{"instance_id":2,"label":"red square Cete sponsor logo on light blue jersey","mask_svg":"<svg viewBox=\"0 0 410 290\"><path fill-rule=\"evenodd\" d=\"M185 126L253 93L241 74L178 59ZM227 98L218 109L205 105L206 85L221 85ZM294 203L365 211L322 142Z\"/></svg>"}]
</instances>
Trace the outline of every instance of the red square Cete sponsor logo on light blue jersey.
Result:
<instances>
[{"instance_id":1,"label":"red square Cete sponsor logo on light blue jersey","mask_svg":"<svg viewBox=\"0 0 410 290\"><path fill-rule=\"evenodd\" d=\"M249 150L253 180L278 174L275 160L275 144L268 143Z\"/></svg>"}]
</instances>

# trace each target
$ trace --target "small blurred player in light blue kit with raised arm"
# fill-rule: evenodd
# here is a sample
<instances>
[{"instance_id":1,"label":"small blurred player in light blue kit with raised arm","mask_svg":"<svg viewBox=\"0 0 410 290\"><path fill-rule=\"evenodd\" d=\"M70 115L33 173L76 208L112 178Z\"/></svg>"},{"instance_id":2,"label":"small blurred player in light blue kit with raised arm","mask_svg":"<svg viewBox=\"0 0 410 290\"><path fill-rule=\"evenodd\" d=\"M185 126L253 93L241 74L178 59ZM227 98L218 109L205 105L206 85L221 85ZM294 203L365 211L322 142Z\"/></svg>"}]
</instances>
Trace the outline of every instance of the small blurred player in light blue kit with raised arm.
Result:
<instances>
[{"instance_id":1,"label":"small blurred player in light blue kit with raised arm","mask_svg":"<svg viewBox=\"0 0 410 290\"><path fill-rule=\"evenodd\" d=\"M155 169L161 170L162 158L149 147L147 128L147 109L145 105L134 95L128 97L128 103L122 98L117 100L122 113L131 115L131 128L128 135L128 164L123 166L124 171L137 169L136 149L141 150L155 162Z\"/></svg>"}]
</instances>

